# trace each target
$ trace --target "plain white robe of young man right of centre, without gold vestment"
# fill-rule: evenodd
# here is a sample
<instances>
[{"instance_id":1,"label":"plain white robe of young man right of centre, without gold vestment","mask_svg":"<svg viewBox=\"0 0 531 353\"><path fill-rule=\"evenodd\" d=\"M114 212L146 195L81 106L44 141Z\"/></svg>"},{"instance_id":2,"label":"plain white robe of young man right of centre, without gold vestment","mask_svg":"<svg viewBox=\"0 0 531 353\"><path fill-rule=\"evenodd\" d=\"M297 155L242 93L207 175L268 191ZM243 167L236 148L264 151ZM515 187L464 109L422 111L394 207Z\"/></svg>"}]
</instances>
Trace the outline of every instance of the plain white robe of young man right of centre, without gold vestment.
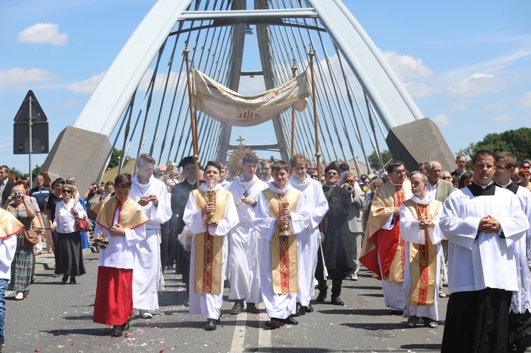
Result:
<instances>
[{"instance_id":1,"label":"plain white robe of young man right of centre, without gold vestment","mask_svg":"<svg viewBox=\"0 0 531 353\"><path fill-rule=\"evenodd\" d=\"M299 250L299 294L297 301L302 306L309 306L309 301L315 294L314 274L317 267L317 252L319 251L319 224L329 210L329 203L324 197L323 187L317 180L306 175L302 182L290 176L290 184L302 192L308 207L308 227L297 236Z\"/></svg>"}]
</instances>

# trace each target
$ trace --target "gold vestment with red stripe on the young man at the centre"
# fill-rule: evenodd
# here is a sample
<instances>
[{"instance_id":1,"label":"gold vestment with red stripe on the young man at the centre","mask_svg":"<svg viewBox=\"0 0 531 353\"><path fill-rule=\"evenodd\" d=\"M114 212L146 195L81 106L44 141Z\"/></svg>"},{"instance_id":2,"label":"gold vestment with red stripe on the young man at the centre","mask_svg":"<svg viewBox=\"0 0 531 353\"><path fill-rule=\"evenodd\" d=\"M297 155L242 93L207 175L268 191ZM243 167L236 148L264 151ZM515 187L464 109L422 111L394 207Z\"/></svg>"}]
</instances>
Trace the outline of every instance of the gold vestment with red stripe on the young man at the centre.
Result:
<instances>
[{"instance_id":1,"label":"gold vestment with red stripe on the young man at the centre","mask_svg":"<svg viewBox=\"0 0 531 353\"><path fill-rule=\"evenodd\" d=\"M299 203L299 190L292 190L287 194L277 194L271 190L264 190L265 199L268 200L269 212L272 218L279 218L282 201L287 201L290 212L295 212ZM282 199L280 199L282 197ZM293 231L290 229L290 232ZM273 292L275 294L299 293L298 250L297 236L278 236L280 226L275 227L271 238L271 270L273 270Z\"/></svg>"}]
</instances>

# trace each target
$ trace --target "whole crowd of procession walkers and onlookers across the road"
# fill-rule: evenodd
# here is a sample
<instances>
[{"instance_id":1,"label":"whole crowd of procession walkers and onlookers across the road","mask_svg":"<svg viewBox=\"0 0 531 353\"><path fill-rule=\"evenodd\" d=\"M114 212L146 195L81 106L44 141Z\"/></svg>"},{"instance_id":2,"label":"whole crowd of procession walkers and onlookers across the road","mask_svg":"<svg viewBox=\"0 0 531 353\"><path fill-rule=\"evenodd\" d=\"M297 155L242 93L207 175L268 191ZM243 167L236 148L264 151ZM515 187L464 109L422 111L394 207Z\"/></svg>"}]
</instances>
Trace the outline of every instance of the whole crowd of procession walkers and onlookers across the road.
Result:
<instances>
[{"instance_id":1,"label":"whole crowd of procession walkers and onlookers across the road","mask_svg":"<svg viewBox=\"0 0 531 353\"><path fill-rule=\"evenodd\" d=\"M443 352L531 347L530 161L478 151L471 170L465 156L455 163L450 172L421 162L410 173L393 160L387 173L358 178L333 162L318 180L302 154L285 162L248 152L229 181L215 161L183 158L179 179L141 154L133 177L93 183L83 197L75 178L51 182L43 172L29 189L0 166L0 296L2 288L16 300L28 295L42 251L55 253L62 283L76 284L90 236L99 250L93 321L112 326L113 337L133 316L153 317L168 271L182 275L190 315L205 330L217 329L224 287L232 314L258 313L263 302L274 329L312 313L312 298L326 301L330 284L330 302L343 306L343 281L358 280L364 265L407 328L438 328L448 283ZM76 219L88 221L86 234ZM38 244L22 228L37 231Z\"/></svg>"}]
</instances>

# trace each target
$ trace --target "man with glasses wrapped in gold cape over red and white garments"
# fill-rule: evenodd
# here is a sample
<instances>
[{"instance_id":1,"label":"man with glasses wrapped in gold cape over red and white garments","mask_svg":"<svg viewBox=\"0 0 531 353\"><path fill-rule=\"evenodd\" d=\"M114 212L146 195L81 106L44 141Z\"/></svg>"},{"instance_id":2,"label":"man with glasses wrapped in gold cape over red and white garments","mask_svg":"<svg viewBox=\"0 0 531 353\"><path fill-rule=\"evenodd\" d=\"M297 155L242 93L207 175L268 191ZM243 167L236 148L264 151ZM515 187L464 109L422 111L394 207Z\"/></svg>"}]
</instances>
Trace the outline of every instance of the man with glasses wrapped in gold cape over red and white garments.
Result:
<instances>
[{"instance_id":1,"label":"man with glasses wrapped in gold cape over red and white garments","mask_svg":"<svg viewBox=\"0 0 531 353\"><path fill-rule=\"evenodd\" d=\"M404 301L405 243L399 229L400 207L410 199L411 182L401 161L387 166L389 181L379 187L372 199L360 262L382 279L385 306L392 315L402 315Z\"/></svg>"}]
</instances>

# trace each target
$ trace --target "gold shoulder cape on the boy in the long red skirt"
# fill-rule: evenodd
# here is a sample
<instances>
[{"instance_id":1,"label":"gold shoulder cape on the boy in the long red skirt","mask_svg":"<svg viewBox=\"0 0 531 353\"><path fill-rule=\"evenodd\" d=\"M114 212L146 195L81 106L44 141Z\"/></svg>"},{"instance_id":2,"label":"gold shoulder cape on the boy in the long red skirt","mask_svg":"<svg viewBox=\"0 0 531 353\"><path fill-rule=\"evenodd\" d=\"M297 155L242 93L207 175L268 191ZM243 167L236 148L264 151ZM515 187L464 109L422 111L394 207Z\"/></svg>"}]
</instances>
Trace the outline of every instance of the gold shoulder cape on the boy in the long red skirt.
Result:
<instances>
[{"instance_id":1,"label":"gold shoulder cape on the boy in the long red skirt","mask_svg":"<svg viewBox=\"0 0 531 353\"><path fill-rule=\"evenodd\" d=\"M142 206L130 197L127 197L123 203L114 196L103 199L91 211L96 214L97 224L105 229L110 229L114 226L114 214L117 208L120 209L118 224L125 229L135 229L149 221Z\"/></svg>"}]
</instances>

